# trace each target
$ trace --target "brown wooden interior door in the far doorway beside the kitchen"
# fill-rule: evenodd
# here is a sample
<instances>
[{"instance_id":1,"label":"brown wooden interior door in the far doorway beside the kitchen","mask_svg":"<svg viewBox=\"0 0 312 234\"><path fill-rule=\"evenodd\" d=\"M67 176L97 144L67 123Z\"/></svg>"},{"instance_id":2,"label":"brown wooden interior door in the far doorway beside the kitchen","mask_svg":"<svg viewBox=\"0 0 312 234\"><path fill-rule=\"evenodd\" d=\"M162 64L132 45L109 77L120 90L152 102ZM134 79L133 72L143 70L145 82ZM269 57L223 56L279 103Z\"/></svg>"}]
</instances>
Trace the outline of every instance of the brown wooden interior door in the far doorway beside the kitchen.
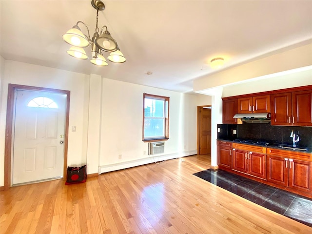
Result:
<instances>
[{"instance_id":1,"label":"brown wooden interior door in the far doorway beside the kitchen","mask_svg":"<svg viewBox=\"0 0 312 234\"><path fill-rule=\"evenodd\" d=\"M198 107L199 111L199 152L198 155L211 154L211 109Z\"/></svg>"}]
</instances>

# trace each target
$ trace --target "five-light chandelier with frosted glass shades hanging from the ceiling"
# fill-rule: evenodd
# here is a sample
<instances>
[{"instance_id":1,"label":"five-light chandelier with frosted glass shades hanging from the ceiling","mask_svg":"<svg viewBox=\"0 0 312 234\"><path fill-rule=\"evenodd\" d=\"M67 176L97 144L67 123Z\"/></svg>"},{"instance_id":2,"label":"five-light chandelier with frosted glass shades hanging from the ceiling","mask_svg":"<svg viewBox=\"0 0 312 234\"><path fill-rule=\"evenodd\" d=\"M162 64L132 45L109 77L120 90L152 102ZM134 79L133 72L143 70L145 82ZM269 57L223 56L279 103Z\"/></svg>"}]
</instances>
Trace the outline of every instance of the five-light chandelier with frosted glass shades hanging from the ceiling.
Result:
<instances>
[{"instance_id":1,"label":"five-light chandelier with frosted glass shades hanging from the ceiling","mask_svg":"<svg viewBox=\"0 0 312 234\"><path fill-rule=\"evenodd\" d=\"M62 37L65 42L72 45L72 47L67 50L67 54L77 59L88 59L88 56L83 48L91 45L91 63L98 66L108 65L102 54L102 51L110 52L110 55L107 58L112 62L125 62L126 58L120 52L117 41L112 38L111 34L107 30L106 25L101 28L100 34L98 34L98 11L105 9L104 3L100 0L91 0L91 5L97 10L97 24L93 37L91 39L87 25L82 21L78 21L76 25L74 25L72 29L68 30ZM83 24L87 28L88 35L85 35L81 32L78 24Z\"/></svg>"}]
</instances>

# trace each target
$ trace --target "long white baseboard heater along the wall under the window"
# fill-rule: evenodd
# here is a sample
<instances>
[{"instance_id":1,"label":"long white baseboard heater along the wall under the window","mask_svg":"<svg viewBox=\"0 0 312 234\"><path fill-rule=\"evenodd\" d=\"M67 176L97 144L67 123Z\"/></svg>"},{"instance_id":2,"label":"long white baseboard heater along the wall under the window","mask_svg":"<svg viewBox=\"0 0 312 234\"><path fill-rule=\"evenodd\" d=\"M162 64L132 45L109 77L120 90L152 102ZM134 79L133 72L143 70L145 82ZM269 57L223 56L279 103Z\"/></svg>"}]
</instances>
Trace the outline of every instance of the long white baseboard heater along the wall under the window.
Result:
<instances>
[{"instance_id":1,"label":"long white baseboard heater along the wall under the window","mask_svg":"<svg viewBox=\"0 0 312 234\"><path fill-rule=\"evenodd\" d=\"M186 151L186 152L176 153L176 154L169 154L169 155L155 155L154 158L153 156L149 155L149 156L146 156L146 158L140 158L140 159L126 161L126 162L119 162L119 163L99 166L98 174L117 171L117 170L126 169L130 167L141 166L141 165L153 163L155 161L159 162L163 160L173 159L177 157L191 156L191 155L196 155L196 154L197 154L197 150Z\"/></svg>"}]
</instances>

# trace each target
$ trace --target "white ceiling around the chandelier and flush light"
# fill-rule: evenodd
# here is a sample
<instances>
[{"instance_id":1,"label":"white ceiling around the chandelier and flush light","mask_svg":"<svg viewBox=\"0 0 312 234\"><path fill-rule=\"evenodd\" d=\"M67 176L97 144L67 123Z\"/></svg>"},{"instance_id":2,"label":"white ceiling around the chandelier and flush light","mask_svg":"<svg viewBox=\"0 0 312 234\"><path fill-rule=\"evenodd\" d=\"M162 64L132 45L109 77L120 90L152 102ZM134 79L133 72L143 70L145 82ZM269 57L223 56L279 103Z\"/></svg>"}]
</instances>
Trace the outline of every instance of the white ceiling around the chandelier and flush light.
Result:
<instances>
[{"instance_id":1,"label":"white ceiling around the chandelier and flush light","mask_svg":"<svg viewBox=\"0 0 312 234\"><path fill-rule=\"evenodd\" d=\"M0 0L4 59L191 92L193 80L312 39L311 0L103 0L107 25L127 61L97 67L66 54L62 35L77 21L95 30L90 0ZM81 26L86 34L86 29ZM86 52L90 58L90 47ZM104 57L107 58L107 53ZM153 72L147 76L147 72Z\"/></svg>"}]
</instances>

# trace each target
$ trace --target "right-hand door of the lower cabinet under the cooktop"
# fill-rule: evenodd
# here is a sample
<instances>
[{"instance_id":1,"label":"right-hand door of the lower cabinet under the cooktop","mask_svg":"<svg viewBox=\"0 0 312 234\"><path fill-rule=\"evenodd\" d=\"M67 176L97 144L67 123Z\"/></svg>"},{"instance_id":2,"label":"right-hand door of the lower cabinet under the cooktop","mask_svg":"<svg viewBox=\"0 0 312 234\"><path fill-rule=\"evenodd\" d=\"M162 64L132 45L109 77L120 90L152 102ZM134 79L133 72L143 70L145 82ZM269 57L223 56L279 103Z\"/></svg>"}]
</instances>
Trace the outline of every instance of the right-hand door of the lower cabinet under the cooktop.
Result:
<instances>
[{"instance_id":1,"label":"right-hand door of the lower cabinet under the cooktop","mask_svg":"<svg viewBox=\"0 0 312 234\"><path fill-rule=\"evenodd\" d=\"M248 153L248 174L266 178L266 156L259 153Z\"/></svg>"}]
</instances>

